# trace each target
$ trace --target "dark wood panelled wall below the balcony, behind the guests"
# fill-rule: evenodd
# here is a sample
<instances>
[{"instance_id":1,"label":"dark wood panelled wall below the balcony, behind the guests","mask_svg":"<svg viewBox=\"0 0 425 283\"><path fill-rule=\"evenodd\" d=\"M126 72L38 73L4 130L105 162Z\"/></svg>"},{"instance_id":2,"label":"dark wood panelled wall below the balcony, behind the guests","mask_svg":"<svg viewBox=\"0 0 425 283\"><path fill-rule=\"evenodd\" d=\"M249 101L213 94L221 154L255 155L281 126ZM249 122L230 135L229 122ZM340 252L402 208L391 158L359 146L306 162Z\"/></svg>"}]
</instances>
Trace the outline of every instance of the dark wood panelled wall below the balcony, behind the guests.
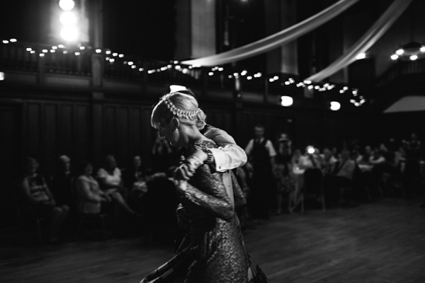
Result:
<instances>
[{"instance_id":1,"label":"dark wood panelled wall below the balcony, behind the guests","mask_svg":"<svg viewBox=\"0 0 425 283\"><path fill-rule=\"evenodd\" d=\"M0 98L0 172L16 172L23 156L40 161L40 170L55 172L58 156L67 154L74 161L89 159L99 166L106 154L113 154L118 166L130 166L132 156L140 154L149 163L149 152L156 137L150 126L152 101L129 100L115 96L92 98L91 93L11 93ZM295 146L338 146L343 141L362 138L365 115L292 110L266 105L234 108L229 101L206 104L202 108L208 122L225 129L243 148L253 136L255 125L264 125L266 137L276 141L287 132ZM367 116L367 115L366 115Z\"/></svg>"}]
</instances>

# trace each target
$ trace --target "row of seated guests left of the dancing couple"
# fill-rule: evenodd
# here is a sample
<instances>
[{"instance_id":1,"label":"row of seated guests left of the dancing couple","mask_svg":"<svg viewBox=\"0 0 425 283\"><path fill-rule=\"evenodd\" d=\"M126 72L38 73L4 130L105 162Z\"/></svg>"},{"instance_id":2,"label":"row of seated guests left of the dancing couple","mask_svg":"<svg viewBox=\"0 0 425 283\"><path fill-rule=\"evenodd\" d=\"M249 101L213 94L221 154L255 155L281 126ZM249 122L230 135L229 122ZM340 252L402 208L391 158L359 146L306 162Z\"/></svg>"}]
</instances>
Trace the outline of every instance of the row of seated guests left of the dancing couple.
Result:
<instances>
[{"instance_id":1,"label":"row of seated guests left of the dancing couple","mask_svg":"<svg viewBox=\"0 0 425 283\"><path fill-rule=\"evenodd\" d=\"M43 175L35 158L24 158L14 190L20 216L45 219L43 238L52 244L76 236L84 215L106 214L111 235L118 237L129 233L152 237L156 223L176 228L177 204L169 177L178 159L171 160L174 151L158 142L161 146L154 145L152 158L167 168L159 167L159 162L147 168L138 155L129 168L120 168L113 155L105 156L98 168L90 161L74 162L62 155L57 158L55 174Z\"/></svg>"}]
</instances>

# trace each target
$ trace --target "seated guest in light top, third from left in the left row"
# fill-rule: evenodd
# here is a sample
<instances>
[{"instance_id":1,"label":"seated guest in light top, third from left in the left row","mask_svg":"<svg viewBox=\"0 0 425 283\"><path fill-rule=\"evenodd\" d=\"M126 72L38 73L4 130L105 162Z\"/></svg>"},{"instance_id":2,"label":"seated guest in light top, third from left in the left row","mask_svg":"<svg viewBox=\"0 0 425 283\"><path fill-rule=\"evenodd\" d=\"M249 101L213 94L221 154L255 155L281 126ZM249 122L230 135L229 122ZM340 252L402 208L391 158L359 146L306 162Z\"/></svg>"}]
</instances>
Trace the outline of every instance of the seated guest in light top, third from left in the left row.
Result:
<instances>
[{"instance_id":1,"label":"seated guest in light top, third from left in the left row","mask_svg":"<svg viewBox=\"0 0 425 283\"><path fill-rule=\"evenodd\" d=\"M111 202L99 188L98 182L91 176L91 163L83 161L79 164L79 176L75 180L75 196L80 214L97 214L101 212L102 202Z\"/></svg>"}]
</instances>

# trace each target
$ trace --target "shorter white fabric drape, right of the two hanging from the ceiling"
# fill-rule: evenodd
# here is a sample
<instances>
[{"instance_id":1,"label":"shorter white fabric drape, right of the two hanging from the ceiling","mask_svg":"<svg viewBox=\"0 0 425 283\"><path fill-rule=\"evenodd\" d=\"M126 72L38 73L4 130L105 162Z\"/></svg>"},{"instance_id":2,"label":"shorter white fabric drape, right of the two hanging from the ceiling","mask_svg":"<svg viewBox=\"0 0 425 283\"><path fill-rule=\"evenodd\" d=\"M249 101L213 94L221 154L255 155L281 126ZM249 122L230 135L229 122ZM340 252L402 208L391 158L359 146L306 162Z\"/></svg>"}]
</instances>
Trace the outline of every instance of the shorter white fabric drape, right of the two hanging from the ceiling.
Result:
<instances>
[{"instance_id":1,"label":"shorter white fabric drape, right of the two hanging from the ceiling","mask_svg":"<svg viewBox=\"0 0 425 283\"><path fill-rule=\"evenodd\" d=\"M356 61L356 56L359 53L367 51L378 39L390 28L390 26L399 18L399 16L406 10L412 0L395 0L387 11L380 16L378 21L368 30L363 37L361 37L346 54L342 55L332 64L330 64L322 71L308 77L307 81L323 81L336 71L347 67L352 62Z\"/></svg>"}]
</instances>

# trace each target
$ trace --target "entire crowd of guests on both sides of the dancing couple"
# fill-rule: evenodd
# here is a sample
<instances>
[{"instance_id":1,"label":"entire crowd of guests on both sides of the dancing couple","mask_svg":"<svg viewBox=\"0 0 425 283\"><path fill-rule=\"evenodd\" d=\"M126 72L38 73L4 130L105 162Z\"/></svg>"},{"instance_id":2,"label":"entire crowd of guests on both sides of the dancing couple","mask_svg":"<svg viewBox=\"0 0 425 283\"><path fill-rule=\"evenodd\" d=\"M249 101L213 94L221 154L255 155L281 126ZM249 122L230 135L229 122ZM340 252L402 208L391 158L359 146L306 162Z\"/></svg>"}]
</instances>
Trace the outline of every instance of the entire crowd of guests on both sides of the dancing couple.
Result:
<instances>
[{"instance_id":1,"label":"entire crowd of guests on both sides of the dancing couple","mask_svg":"<svg viewBox=\"0 0 425 283\"><path fill-rule=\"evenodd\" d=\"M238 212L243 228L275 214L293 213L300 202L295 194L303 189L296 192L296 173L309 169L321 172L327 207L340 201L344 187L353 190L356 203L421 193L424 161L416 134L398 143L388 139L374 146L354 141L321 151L314 146L299 149L285 133L275 142L264 133L264 127L255 127L255 137L245 149L248 162L234 170L247 200ZM113 235L123 236L129 227L139 226L137 233L145 231L151 238L164 227L172 237L179 233L172 181L179 154L157 139L151 157L149 168L140 156L132 157L129 168L120 168L108 155L95 170L89 161L74 163L63 155L52 176L41 175L38 161L27 157L18 178L18 206L23 215L48 219L48 243L73 235L81 215L100 213L109 215Z\"/></svg>"}]
</instances>

